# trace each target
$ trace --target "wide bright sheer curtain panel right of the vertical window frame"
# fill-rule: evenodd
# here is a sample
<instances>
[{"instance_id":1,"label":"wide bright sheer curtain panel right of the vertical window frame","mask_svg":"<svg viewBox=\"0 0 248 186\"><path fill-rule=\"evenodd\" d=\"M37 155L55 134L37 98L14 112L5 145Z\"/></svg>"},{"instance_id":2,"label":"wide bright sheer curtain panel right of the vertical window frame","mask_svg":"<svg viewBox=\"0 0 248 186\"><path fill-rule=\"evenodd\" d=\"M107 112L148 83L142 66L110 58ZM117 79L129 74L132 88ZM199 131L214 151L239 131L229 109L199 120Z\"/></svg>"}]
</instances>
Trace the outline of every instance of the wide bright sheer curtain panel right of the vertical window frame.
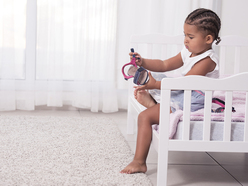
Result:
<instances>
[{"instance_id":1,"label":"wide bright sheer curtain panel right of the vertical window frame","mask_svg":"<svg viewBox=\"0 0 248 186\"><path fill-rule=\"evenodd\" d=\"M117 111L116 1L38 0L37 8L36 79L47 81L37 103Z\"/></svg>"}]
</instances>

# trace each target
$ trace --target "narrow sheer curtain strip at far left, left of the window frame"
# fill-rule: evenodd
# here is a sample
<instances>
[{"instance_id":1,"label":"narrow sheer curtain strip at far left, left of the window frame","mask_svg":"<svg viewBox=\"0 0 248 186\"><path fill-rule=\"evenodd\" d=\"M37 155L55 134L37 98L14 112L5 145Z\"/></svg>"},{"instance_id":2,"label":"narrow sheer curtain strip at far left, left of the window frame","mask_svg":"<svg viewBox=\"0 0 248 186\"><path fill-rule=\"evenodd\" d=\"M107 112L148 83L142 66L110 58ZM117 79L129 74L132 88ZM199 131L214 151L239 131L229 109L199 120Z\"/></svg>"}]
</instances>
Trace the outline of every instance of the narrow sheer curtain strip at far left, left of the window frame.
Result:
<instances>
[{"instance_id":1,"label":"narrow sheer curtain strip at far left, left of the window frame","mask_svg":"<svg viewBox=\"0 0 248 186\"><path fill-rule=\"evenodd\" d=\"M1 111L16 109L15 79L25 78L25 5L26 0L0 0Z\"/></svg>"}]
</instances>

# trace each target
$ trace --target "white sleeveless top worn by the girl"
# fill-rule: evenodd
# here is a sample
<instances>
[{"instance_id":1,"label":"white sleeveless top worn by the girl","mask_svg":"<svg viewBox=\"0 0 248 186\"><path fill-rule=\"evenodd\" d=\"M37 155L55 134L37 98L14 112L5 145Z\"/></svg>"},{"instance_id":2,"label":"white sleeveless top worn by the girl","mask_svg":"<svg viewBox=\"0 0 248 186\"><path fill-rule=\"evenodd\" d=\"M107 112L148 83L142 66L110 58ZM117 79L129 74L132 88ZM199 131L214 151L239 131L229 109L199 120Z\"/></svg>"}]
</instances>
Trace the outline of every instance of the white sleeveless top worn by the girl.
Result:
<instances>
[{"instance_id":1,"label":"white sleeveless top worn by the girl","mask_svg":"<svg viewBox=\"0 0 248 186\"><path fill-rule=\"evenodd\" d=\"M207 50L206 52L194 57L190 57L191 54L192 53L184 46L181 51L181 57L183 60L183 70L181 72L183 76L185 76L198 61L209 56L216 63L216 66L214 70L207 73L206 76L210 78L219 78L219 58L213 49Z\"/></svg>"}]
</instances>

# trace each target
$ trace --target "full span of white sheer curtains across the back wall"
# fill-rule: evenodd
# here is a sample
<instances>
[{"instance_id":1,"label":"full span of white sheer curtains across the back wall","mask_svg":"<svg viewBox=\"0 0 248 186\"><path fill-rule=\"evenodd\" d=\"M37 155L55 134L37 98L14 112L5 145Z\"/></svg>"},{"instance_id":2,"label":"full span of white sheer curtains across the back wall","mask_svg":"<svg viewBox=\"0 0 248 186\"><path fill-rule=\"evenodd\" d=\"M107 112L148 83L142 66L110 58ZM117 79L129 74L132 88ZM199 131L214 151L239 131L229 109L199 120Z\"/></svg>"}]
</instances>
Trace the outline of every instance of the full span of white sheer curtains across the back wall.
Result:
<instances>
[{"instance_id":1,"label":"full span of white sheer curtains across the back wall","mask_svg":"<svg viewBox=\"0 0 248 186\"><path fill-rule=\"evenodd\" d=\"M131 35L182 34L188 13L199 7L220 13L220 5L221 0L0 0L0 110L127 108L121 67L129 62Z\"/></svg>"}]
</instances>

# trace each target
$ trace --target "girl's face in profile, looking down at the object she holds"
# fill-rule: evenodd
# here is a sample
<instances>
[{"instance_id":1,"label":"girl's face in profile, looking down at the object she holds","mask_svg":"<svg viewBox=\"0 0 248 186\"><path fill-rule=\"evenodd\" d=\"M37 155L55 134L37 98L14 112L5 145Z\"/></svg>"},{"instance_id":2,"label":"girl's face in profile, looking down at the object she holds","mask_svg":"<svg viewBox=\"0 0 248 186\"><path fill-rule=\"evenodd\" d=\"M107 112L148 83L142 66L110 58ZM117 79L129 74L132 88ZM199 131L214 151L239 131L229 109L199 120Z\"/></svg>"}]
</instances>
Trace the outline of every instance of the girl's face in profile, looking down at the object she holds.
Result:
<instances>
[{"instance_id":1,"label":"girl's face in profile, looking down at the object she holds","mask_svg":"<svg viewBox=\"0 0 248 186\"><path fill-rule=\"evenodd\" d=\"M210 35L204 35L195 25L184 24L184 45L191 57L202 54L211 48Z\"/></svg>"}]
</instances>

